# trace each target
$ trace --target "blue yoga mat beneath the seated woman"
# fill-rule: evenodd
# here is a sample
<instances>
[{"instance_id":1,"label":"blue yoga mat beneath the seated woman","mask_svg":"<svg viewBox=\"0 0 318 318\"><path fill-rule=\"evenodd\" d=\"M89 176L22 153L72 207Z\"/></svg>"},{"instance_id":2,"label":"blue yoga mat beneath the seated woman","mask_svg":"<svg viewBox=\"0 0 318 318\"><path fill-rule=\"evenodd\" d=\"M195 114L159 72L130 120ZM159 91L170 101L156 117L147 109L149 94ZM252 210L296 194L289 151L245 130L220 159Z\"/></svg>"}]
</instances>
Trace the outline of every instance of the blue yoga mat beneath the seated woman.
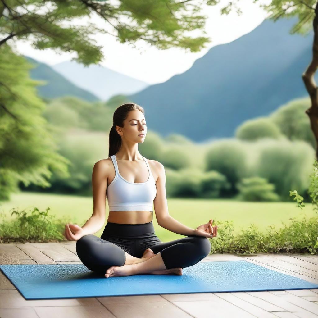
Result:
<instances>
[{"instance_id":1,"label":"blue yoga mat beneath the seated woman","mask_svg":"<svg viewBox=\"0 0 318 318\"><path fill-rule=\"evenodd\" d=\"M317 284L246 260L199 262L183 275L109 277L83 264L0 265L25 299L314 289Z\"/></svg>"}]
</instances>

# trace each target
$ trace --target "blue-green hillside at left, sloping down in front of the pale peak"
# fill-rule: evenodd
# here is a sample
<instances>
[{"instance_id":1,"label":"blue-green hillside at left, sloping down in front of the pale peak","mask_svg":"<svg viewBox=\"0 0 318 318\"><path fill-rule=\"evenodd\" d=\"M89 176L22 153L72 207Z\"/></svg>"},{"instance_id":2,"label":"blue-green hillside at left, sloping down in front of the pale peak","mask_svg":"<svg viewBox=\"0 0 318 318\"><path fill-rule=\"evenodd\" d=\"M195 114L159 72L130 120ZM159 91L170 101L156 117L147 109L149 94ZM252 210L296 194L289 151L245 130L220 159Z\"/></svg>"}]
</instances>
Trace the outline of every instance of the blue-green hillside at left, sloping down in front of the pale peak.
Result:
<instances>
[{"instance_id":1,"label":"blue-green hillside at left, sloping down in front of the pale peak","mask_svg":"<svg viewBox=\"0 0 318 318\"><path fill-rule=\"evenodd\" d=\"M76 96L87 101L97 101L99 98L92 93L75 86L58 72L54 71L45 63L38 62L28 56L24 56L28 62L36 67L30 70L32 79L45 80L47 85L37 86L38 94L46 98L56 98L63 96Z\"/></svg>"}]
</instances>

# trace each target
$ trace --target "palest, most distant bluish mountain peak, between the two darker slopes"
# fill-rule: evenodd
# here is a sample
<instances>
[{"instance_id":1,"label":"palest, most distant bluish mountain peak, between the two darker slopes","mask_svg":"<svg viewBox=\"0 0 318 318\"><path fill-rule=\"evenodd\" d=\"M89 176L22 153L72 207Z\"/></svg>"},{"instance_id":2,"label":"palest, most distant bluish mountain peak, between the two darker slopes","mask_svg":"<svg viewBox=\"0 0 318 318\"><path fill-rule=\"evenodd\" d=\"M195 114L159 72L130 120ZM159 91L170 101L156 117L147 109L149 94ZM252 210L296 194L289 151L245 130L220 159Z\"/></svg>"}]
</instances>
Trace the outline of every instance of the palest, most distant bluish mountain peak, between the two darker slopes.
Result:
<instances>
[{"instance_id":1,"label":"palest, most distant bluish mountain peak, between the two darker slopes","mask_svg":"<svg viewBox=\"0 0 318 318\"><path fill-rule=\"evenodd\" d=\"M76 86L87 89L101 100L118 94L134 94L149 86L148 83L110 70L101 65L83 66L76 61L67 61L52 66Z\"/></svg>"}]
</instances>

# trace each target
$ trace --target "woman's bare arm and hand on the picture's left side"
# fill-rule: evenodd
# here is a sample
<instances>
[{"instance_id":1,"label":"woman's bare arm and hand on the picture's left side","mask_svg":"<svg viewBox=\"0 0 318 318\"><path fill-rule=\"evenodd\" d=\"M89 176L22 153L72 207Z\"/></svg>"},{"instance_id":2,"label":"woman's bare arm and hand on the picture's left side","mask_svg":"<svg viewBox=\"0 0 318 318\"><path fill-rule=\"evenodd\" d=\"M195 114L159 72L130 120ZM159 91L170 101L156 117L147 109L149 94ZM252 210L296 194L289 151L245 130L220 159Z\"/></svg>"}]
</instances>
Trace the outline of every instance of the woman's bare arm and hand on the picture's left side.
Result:
<instances>
[{"instance_id":1,"label":"woman's bare arm and hand on the picture's left side","mask_svg":"<svg viewBox=\"0 0 318 318\"><path fill-rule=\"evenodd\" d=\"M95 234L98 232L105 223L105 213L106 213L106 190L107 190L107 178L108 178L108 167L109 164L106 160L100 160L94 164L93 174L92 174L92 187L93 187L93 214L82 226L78 229L80 234L78 236L82 237L87 234ZM72 227L72 225L71 225ZM72 229L75 230L76 229ZM70 233L71 229L66 225L66 232L68 233L67 239L74 240ZM73 231L72 231L73 232ZM73 233L76 235L76 233ZM79 237L79 238L80 238ZM76 237L76 239L79 239Z\"/></svg>"}]
</instances>

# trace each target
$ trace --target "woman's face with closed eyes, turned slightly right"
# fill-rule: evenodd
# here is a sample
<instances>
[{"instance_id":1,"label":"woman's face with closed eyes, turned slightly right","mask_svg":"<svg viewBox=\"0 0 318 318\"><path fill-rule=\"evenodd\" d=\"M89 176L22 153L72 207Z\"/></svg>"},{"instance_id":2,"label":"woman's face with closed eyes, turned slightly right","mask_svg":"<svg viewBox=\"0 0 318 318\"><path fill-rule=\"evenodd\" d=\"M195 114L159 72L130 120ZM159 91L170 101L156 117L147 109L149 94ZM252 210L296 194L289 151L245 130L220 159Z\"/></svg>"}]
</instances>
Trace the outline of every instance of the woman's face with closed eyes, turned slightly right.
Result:
<instances>
[{"instance_id":1,"label":"woman's face with closed eyes, turned slightly right","mask_svg":"<svg viewBox=\"0 0 318 318\"><path fill-rule=\"evenodd\" d=\"M145 116L138 109L130 111L124 121L124 128L121 129L124 137L129 139L129 141L137 143L144 142L147 135Z\"/></svg>"}]
</instances>

